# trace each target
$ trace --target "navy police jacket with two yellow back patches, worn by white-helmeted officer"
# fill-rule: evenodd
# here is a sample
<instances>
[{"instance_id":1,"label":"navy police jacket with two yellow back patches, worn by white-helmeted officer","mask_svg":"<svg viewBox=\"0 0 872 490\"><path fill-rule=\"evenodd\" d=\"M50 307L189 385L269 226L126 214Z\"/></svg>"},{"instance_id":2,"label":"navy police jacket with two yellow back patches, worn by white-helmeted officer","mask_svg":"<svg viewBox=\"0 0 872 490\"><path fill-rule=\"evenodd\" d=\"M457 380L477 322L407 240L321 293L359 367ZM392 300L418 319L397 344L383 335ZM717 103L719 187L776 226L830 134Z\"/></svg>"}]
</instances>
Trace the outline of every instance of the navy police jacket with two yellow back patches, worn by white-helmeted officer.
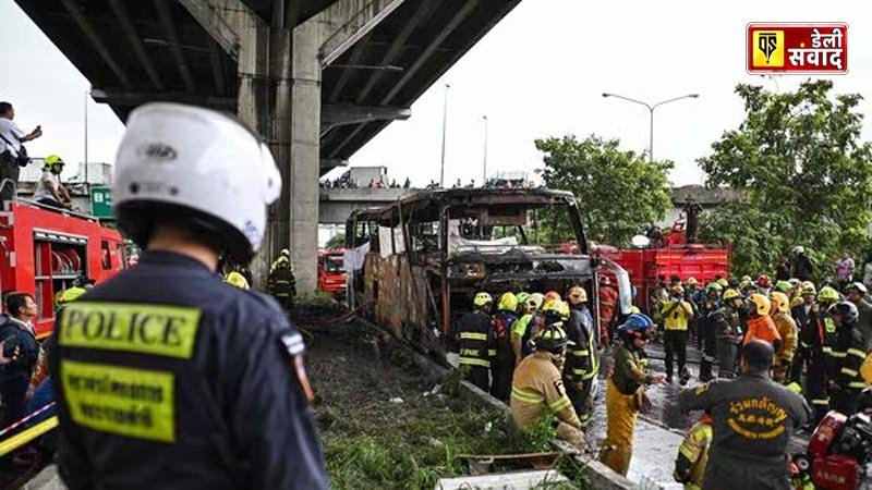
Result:
<instances>
[{"instance_id":1,"label":"navy police jacket with two yellow back patches, worn by white-helmeted officer","mask_svg":"<svg viewBox=\"0 0 872 490\"><path fill-rule=\"evenodd\" d=\"M146 252L68 305L55 335L71 490L327 488L303 340L268 296Z\"/></svg>"}]
</instances>

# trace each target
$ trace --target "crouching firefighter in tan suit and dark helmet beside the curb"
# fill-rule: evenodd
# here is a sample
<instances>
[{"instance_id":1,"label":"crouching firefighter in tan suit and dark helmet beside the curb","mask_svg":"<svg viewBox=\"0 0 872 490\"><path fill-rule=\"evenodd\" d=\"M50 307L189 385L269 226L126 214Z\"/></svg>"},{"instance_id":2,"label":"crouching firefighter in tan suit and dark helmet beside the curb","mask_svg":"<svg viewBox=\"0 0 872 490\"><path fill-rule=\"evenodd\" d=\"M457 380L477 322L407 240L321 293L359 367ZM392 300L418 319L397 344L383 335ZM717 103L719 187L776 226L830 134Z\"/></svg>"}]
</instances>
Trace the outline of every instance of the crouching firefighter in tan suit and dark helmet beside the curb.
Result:
<instances>
[{"instance_id":1,"label":"crouching firefighter in tan suit and dark helmet beside the curb","mask_svg":"<svg viewBox=\"0 0 872 490\"><path fill-rule=\"evenodd\" d=\"M535 351L521 360L512 377L512 420L520 429L529 429L541 424L545 413L550 412L556 418L557 437L585 450L588 442L581 421L567 396L560 375L571 341L558 321L537 332L533 343Z\"/></svg>"}]
</instances>

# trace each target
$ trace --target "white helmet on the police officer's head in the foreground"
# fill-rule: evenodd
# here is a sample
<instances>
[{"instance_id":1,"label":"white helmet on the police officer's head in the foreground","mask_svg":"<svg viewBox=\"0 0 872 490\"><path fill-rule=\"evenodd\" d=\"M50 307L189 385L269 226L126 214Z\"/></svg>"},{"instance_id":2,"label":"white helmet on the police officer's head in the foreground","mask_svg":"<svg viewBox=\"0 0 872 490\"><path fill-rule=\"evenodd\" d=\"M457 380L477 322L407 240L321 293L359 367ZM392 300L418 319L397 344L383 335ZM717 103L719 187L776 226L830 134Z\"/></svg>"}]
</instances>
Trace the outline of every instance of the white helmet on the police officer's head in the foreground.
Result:
<instances>
[{"instance_id":1,"label":"white helmet on the police officer's head in the foreground","mask_svg":"<svg viewBox=\"0 0 872 490\"><path fill-rule=\"evenodd\" d=\"M269 148L239 121L193 106L147 103L131 112L116 157L119 224L141 247L157 222L189 226L240 264L281 193Z\"/></svg>"}]
</instances>

